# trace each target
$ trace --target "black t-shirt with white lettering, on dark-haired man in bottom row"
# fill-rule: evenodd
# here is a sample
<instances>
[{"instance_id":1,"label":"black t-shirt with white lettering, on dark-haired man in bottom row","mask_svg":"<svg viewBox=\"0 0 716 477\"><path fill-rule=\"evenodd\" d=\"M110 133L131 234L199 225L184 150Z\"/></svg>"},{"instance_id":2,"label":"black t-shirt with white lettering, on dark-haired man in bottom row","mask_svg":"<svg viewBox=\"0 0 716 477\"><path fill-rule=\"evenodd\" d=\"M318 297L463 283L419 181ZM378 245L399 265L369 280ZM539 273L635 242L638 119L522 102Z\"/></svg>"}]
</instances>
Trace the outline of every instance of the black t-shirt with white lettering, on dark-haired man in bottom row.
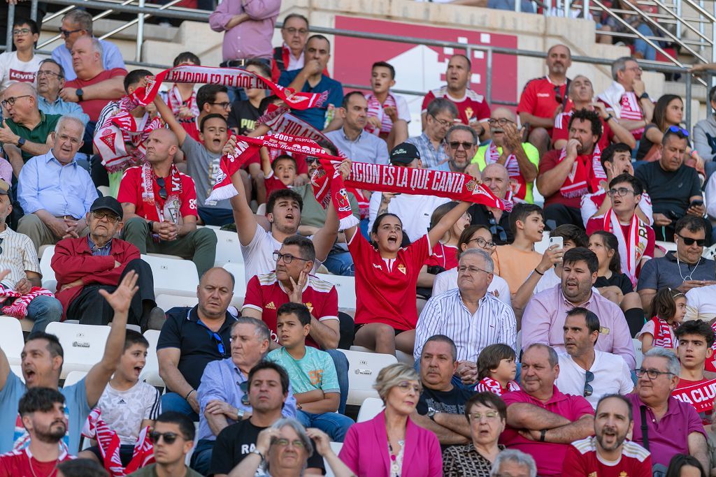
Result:
<instances>
[{"instance_id":1,"label":"black t-shirt with white lettering, on dark-haired man in bottom row","mask_svg":"<svg viewBox=\"0 0 716 477\"><path fill-rule=\"evenodd\" d=\"M216 436L208 475L213 476L216 473L228 474L231 472L231 469L238 466L238 463L243 461L243 458L256 448L258 433L263 429L266 428L254 426L249 419L224 428ZM323 473L326 473L323 458L316 451L309 457L308 466L310 468L320 468Z\"/></svg>"}]
</instances>

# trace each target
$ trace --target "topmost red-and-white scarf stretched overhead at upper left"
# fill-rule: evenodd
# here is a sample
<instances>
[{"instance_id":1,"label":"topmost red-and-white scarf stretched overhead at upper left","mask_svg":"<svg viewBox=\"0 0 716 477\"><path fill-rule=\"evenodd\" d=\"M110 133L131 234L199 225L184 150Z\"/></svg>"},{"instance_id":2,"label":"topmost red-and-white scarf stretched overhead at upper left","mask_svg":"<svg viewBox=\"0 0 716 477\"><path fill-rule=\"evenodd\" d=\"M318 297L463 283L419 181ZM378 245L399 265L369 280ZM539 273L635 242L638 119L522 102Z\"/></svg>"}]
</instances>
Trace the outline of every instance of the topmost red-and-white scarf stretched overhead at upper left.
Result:
<instances>
[{"instance_id":1,"label":"topmost red-and-white scarf stretched overhead at upper left","mask_svg":"<svg viewBox=\"0 0 716 477\"><path fill-rule=\"evenodd\" d=\"M320 94L296 92L294 89L284 88L269 79L244 69L200 67L195 64L183 64L165 69L156 77L147 77L147 88L140 88L135 92L137 98L140 98L140 103L146 105L153 102L163 82L223 84L224 86L239 88L266 89L283 99L284 103L293 109L320 107L328 97L327 92Z\"/></svg>"}]
</instances>

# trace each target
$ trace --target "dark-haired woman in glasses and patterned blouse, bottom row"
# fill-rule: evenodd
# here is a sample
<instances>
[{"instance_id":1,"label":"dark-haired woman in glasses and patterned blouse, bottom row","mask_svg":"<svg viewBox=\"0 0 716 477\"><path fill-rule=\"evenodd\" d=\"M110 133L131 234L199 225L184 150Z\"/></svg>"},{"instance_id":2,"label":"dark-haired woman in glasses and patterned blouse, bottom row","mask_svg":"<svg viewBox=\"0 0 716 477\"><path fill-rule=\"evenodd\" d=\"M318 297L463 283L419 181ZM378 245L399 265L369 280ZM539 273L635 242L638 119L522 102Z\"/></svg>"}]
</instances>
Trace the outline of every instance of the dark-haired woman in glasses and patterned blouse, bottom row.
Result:
<instances>
[{"instance_id":1,"label":"dark-haired woman in glasses and patterned blouse, bottom row","mask_svg":"<svg viewBox=\"0 0 716 477\"><path fill-rule=\"evenodd\" d=\"M489 477L505 430L507 407L500 396L477 393L465 403L465 416L470 423L473 441L464 446L450 446L442 453L442 475L445 477Z\"/></svg>"}]
</instances>

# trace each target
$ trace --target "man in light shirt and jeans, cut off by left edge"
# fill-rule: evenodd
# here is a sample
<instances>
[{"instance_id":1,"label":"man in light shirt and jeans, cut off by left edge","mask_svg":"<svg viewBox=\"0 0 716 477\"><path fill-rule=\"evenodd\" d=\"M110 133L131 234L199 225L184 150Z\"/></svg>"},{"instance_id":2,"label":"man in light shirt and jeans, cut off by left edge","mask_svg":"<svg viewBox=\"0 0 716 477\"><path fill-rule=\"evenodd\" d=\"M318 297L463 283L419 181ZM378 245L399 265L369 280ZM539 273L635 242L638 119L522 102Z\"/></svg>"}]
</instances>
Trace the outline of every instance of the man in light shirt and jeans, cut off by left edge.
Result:
<instances>
[{"instance_id":1,"label":"man in light shirt and jeans, cut off by left edge","mask_svg":"<svg viewBox=\"0 0 716 477\"><path fill-rule=\"evenodd\" d=\"M49 323L62 319L62 305L55 297L28 295L32 287L42 286L42 275L37 251L30 237L15 232L5 223L12 212L9 190L10 185L0 180L0 270L10 270L0 282L0 292L3 295L8 291L19 292L23 296L18 300L0 297L0 306L24 307L26 318L35 323L32 331L44 331Z\"/></svg>"}]
</instances>

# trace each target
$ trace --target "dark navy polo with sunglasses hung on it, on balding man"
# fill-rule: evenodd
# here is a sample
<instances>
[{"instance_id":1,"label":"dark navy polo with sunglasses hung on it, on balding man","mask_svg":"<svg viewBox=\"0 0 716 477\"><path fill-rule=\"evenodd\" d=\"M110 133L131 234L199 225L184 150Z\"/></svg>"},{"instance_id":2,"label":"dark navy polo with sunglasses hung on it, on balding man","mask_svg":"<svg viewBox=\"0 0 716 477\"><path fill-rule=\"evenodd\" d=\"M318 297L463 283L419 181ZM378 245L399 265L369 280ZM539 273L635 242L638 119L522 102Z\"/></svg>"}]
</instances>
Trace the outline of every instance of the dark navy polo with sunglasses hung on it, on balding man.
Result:
<instances>
[{"instance_id":1,"label":"dark navy polo with sunglasses hung on it, on balding man","mask_svg":"<svg viewBox=\"0 0 716 477\"><path fill-rule=\"evenodd\" d=\"M201 375L208 363L231 356L231 323L236 321L236 318L227 312L226 320L218 330L224 350L222 355L213 333L199 323L196 309L197 307L171 308L167 312L167 320L157 342L157 350L179 348L181 355L177 367L194 389L199 388Z\"/></svg>"}]
</instances>

